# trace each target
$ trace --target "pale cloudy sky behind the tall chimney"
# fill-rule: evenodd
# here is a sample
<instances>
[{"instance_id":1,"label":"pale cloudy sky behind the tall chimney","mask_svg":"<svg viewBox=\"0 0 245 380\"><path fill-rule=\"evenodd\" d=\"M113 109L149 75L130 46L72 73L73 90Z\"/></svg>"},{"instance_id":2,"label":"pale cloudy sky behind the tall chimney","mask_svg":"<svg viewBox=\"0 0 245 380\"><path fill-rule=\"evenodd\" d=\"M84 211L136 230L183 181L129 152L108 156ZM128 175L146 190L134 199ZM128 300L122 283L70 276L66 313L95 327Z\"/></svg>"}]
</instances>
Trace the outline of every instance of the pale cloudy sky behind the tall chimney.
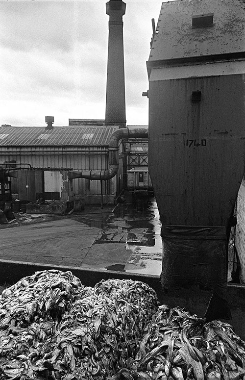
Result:
<instances>
[{"instance_id":1,"label":"pale cloudy sky behind the tall chimney","mask_svg":"<svg viewBox=\"0 0 245 380\"><path fill-rule=\"evenodd\" d=\"M0 124L104 119L106 0L0 0ZM162 0L124 0L126 119L148 124L146 61Z\"/></svg>"}]
</instances>

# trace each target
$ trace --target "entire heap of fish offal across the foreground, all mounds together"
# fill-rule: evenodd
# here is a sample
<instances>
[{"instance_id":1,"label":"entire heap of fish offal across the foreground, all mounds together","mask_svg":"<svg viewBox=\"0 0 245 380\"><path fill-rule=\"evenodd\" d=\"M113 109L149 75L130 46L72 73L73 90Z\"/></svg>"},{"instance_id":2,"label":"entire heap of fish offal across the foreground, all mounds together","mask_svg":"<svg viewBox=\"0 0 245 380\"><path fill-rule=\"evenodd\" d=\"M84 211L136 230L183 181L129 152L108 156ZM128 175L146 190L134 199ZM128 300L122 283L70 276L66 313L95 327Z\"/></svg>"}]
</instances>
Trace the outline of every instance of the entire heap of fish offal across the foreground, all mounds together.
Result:
<instances>
[{"instance_id":1,"label":"entire heap of fish offal across the foreground, all mounds together","mask_svg":"<svg viewBox=\"0 0 245 380\"><path fill-rule=\"evenodd\" d=\"M0 297L0 380L245 379L245 342L147 284L36 272Z\"/></svg>"}]
</instances>

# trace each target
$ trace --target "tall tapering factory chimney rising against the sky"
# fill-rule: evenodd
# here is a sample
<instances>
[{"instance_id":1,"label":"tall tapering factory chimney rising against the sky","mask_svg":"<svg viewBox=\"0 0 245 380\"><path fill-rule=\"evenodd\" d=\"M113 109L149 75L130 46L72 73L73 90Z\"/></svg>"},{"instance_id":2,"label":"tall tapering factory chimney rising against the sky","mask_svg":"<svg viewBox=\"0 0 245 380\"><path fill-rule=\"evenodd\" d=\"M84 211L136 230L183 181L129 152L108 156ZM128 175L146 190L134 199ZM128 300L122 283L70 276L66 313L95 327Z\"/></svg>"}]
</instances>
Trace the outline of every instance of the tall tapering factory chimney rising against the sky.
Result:
<instances>
[{"instance_id":1,"label":"tall tapering factory chimney rising against the sky","mask_svg":"<svg viewBox=\"0 0 245 380\"><path fill-rule=\"evenodd\" d=\"M126 126L125 80L123 56L123 15L126 4L122 0L106 3L109 15L109 41L106 84L105 124Z\"/></svg>"}]
</instances>

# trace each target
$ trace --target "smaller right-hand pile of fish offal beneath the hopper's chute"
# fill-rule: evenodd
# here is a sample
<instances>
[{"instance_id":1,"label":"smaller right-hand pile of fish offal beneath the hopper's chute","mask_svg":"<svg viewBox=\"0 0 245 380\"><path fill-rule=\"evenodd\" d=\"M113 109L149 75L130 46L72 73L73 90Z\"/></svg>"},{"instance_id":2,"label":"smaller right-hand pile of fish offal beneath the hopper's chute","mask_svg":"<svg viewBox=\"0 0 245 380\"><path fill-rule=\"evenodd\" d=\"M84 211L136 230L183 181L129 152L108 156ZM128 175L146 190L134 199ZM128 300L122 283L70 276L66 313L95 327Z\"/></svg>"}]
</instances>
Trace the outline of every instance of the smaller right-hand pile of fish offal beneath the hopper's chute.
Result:
<instances>
[{"instance_id":1,"label":"smaller right-hand pile of fish offal beneath the hopper's chute","mask_svg":"<svg viewBox=\"0 0 245 380\"><path fill-rule=\"evenodd\" d=\"M112 380L245 379L245 342L221 321L204 324L179 307L159 306L130 367Z\"/></svg>"}]
</instances>

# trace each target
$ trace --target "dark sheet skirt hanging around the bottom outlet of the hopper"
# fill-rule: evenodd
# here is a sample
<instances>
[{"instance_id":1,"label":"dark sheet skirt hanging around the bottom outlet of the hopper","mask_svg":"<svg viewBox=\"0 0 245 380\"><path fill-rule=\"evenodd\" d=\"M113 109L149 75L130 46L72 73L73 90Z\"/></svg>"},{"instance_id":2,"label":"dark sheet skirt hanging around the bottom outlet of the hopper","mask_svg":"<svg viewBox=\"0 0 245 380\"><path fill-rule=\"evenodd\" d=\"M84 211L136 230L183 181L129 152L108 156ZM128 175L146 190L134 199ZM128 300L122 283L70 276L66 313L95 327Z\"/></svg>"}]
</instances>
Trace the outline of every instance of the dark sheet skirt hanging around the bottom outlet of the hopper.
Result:
<instances>
[{"instance_id":1,"label":"dark sheet skirt hanging around the bottom outlet of the hopper","mask_svg":"<svg viewBox=\"0 0 245 380\"><path fill-rule=\"evenodd\" d=\"M165 288L196 283L214 289L226 279L226 228L163 226L161 281Z\"/></svg>"}]
</instances>

